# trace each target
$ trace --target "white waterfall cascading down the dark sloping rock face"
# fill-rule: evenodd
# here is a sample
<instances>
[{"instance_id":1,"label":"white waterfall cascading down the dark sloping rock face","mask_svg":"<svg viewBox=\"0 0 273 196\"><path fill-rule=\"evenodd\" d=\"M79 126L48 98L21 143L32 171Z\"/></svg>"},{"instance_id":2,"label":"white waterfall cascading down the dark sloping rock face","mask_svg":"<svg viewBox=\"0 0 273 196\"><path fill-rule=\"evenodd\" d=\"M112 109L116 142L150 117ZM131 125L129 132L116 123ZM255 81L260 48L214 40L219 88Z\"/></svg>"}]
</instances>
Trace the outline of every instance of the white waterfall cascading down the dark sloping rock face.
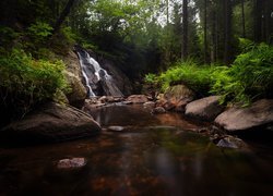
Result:
<instances>
[{"instance_id":1,"label":"white waterfall cascading down the dark sloping rock face","mask_svg":"<svg viewBox=\"0 0 273 196\"><path fill-rule=\"evenodd\" d=\"M107 96L123 96L112 76L110 76L95 59L90 57L88 52L81 49L78 50L78 56L80 58L88 97L95 97L99 95L99 91L103 91L100 93L102 95Z\"/></svg>"}]
</instances>

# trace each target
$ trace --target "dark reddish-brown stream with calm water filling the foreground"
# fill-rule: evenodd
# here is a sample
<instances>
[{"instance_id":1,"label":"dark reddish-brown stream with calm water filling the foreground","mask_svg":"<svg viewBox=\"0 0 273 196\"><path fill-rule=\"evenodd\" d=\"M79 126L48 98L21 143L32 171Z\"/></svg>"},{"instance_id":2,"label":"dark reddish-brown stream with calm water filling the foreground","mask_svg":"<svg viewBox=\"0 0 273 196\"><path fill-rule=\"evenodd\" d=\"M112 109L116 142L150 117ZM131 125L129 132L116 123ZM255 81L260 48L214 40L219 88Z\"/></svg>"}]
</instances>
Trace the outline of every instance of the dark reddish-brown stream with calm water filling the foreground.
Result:
<instances>
[{"instance_id":1,"label":"dark reddish-brown stream with calm water filling the foreground","mask_svg":"<svg viewBox=\"0 0 273 196\"><path fill-rule=\"evenodd\" d=\"M24 148L0 147L0 195L271 195L272 146L216 147L192 132L204 124L178 113L153 115L142 106L92 112L103 126L93 138ZM122 126L122 131L109 131ZM85 158L78 169L61 159Z\"/></svg>"}]
</instances>

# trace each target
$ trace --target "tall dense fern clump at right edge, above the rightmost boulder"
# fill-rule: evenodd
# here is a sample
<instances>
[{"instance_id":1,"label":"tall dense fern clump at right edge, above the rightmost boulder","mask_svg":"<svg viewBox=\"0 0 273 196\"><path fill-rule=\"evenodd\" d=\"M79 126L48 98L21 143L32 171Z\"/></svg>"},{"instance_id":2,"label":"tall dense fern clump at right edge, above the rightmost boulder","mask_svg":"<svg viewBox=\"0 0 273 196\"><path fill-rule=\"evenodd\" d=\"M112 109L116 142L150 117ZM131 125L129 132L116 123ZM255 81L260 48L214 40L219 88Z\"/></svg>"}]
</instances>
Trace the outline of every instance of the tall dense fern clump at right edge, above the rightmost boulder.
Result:
<instances>
[{"instance_id":1,"label":"tall dense fern clump at right edge, above the rightmost boulder","mask_svg":"<svg viewBox=\"0 0 273 196\"><path fill-rule=\"evenodd\" d=\"M272 96L273 47L247 42L249 51L239 54L232 68L213 73L212 91L223 95L223 100L249 105L257 98Z\"/></svg>"}]
</instances>

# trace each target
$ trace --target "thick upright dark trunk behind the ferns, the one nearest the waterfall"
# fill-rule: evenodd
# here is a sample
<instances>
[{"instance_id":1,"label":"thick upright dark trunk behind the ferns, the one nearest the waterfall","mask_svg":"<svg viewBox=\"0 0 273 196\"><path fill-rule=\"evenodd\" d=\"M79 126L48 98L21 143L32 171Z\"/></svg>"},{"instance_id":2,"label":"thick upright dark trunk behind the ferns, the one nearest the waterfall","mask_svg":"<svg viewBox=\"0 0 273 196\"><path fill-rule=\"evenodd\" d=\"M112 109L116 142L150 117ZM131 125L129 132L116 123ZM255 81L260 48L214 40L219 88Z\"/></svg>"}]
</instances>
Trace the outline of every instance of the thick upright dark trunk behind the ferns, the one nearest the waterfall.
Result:
<instances>
[{"instance_id":1,"label":"thick upright dark trunk behind the ferns, the one nearest the waterfall","mask_svg":"<svg viewBox=\"0 0 273 196\"><path fill-rule=\"evenodd\" d=\"M183 0L182 5L182 60L188 58L188 0Z\"/></svg>"}]
</instances>

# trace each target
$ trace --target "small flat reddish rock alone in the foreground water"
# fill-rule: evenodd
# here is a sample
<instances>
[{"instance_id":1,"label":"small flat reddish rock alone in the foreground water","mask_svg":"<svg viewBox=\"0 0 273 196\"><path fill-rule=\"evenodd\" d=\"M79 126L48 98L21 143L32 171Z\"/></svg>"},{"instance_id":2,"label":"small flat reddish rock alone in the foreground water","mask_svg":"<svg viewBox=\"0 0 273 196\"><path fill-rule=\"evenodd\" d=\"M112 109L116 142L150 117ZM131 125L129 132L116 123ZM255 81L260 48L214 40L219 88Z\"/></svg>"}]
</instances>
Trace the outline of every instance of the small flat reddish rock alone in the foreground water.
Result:
<instances>
[{"instance_id":1,"label":"small flat reddish rock alone in the foreground water","mask_svg":"<svg viewBox=\"0 0 273 196\"><path fill-rule=\"evenodd\" d=\"M71 158L61 159L57 163L58 169L79 169L86 166L87 161L85 158Z\"/></svg>"}]
</instances>

